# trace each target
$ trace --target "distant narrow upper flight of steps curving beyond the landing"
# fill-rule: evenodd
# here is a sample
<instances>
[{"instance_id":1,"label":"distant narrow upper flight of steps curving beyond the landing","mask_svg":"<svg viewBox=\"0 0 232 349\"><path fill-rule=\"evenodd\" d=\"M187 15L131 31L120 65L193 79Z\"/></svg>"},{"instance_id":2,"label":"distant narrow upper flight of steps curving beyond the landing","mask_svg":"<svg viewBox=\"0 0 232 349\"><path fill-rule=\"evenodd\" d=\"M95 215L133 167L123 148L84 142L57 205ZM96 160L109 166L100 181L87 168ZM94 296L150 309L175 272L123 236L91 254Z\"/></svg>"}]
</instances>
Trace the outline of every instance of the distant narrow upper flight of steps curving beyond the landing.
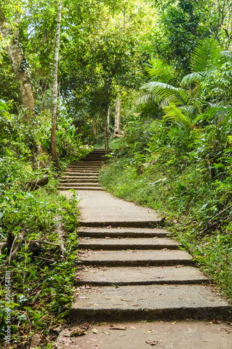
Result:
<instances>
[{"instance_id":1,"label":"distant narrow upper flight of steps curving beyond the landing","mask_svg":"<svg viewBox=\"0 0 232 349\"><path fill-rule=\"evenodd\" d=\"M101 191L99 183L99 168L106 160L105 149L94 149L82 161L77 161L68 166L63 172L58 189L84 191Z\"/></svg>"}]
</instances>

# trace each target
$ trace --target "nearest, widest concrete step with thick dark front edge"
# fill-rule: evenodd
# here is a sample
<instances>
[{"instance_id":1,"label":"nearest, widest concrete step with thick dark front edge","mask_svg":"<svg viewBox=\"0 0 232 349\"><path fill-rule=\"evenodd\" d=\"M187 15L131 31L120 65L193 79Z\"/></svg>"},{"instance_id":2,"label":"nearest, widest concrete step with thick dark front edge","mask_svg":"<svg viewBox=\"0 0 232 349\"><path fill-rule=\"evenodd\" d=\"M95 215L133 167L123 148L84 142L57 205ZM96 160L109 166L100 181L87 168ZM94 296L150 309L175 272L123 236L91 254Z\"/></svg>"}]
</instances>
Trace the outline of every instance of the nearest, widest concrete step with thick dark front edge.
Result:
<instances>
[{"instance_id":1,"label":"nearest, widest concrete step with thick dark front edge","mask_svg":"<svg viewBox=\"0 0 232 349\"><path fill-rule=\"evenodd\" d=\"M84 288L70 309L70 319L158 320L229 317L231 306L209 285L136 285Z\"/></svg>"}]
</instances>

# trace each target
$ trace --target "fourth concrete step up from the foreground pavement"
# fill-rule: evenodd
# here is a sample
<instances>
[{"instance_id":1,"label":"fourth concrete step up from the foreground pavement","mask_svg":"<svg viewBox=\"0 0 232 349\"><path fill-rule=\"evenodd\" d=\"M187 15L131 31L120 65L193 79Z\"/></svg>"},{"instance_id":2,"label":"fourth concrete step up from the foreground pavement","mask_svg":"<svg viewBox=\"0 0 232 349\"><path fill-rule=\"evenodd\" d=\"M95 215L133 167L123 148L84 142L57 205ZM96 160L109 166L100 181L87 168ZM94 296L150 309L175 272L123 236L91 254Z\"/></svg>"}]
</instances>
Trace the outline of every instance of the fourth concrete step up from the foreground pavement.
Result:
<instances>
[{"instance_id":1,"label":"fourth concrete step up from the foreground pavement","mask_svg":"<svg viewBox=\"0 0 232 349\"><path fill-rule=\"evenodd\" d=\"M80 239L79 248L91 250L161 250L179 249L180 244L170 238Z\"/></svg>"}]
</instances>

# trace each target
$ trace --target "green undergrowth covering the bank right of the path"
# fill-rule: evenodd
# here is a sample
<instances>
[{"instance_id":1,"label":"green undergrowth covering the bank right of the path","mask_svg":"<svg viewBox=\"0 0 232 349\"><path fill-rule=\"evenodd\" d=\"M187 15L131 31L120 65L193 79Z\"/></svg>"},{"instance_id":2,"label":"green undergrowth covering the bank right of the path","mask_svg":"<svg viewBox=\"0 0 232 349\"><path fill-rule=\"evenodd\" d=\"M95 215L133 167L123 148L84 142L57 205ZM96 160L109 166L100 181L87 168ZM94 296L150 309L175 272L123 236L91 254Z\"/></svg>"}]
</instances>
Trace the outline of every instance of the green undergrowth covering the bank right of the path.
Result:
<instances>
[{"instance_id":1,"label":"green undergrowth covering the bank right of the path","mask_svg":"<svg viewBox=\"0 0 232 349\"><path fill-rule=\"evenodd\" d=\"M232 299L230 127L215 134L209 125L188 146L183 129L166 121L144 125L137 120L137 127L127 126L123 140L112 143L118 150L102 168L100 180L119 198L165 216L176 239ZM212 168L208 154L215 158Z\"/></svg>"}]
</instances>

